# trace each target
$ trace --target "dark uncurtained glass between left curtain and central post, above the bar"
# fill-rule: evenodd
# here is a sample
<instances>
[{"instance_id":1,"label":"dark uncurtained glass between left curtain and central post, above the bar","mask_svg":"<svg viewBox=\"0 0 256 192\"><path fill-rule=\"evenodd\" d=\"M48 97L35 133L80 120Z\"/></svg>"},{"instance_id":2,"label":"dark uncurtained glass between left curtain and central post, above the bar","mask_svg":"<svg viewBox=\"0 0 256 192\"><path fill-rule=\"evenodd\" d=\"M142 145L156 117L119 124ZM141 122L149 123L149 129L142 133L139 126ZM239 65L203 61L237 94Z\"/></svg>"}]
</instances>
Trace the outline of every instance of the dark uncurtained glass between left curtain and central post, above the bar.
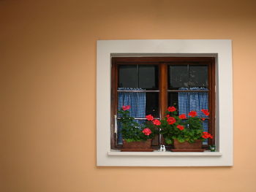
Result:
<instances>
[{"instance_id":1,"label":"dark uncurtained glass between left curtain and central post, above the bar","mask_svg":"<svg viewBox=\"0 0 256 192\"><path fill-rule=\"evenodd\" d=\"M146 93L146 115L159 118L159 93Z\"/></svg>"}]
</instances>

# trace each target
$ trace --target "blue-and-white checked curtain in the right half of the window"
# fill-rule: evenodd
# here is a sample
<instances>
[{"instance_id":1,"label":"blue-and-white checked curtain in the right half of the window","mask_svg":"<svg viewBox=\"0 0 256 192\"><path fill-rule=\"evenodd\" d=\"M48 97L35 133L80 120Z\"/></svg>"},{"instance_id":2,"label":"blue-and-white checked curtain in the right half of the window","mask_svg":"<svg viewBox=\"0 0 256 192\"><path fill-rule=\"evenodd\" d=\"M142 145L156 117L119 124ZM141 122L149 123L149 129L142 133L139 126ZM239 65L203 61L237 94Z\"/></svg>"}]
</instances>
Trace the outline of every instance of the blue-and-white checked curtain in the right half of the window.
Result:
<instances>
[{"instance_id":1,"label":"blue-and-white checked curtain in the right half of the window","mask_svg":"<svg viewBox=\"0 0 256 192\"><path fill-rule=\"evenodd\" d=\"M208 88L179 88L182 91L208 91ZM208 110L208 92L180 92L178 93L179 115L188 115L190 111L196 111L197 117L206 118L201 110ZM203 131L208 131L208 120L203 121ZM207 144L207 139L203 142Z\"/></svg>"}]
</instances>

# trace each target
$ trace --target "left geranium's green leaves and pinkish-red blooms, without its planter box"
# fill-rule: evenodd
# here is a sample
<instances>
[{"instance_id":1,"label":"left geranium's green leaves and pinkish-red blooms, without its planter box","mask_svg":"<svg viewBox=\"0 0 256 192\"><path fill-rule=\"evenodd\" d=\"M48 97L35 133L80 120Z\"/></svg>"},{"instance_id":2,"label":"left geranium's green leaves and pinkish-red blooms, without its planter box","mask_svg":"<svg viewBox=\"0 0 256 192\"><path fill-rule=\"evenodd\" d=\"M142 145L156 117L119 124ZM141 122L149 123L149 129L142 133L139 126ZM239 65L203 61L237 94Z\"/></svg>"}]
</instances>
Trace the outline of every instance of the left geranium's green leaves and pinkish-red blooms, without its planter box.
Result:
<instances>
[{"instance_id":1,"label":"left geranium's green leaves and pinkish-red blooms, without its planter box","mask_svg":"<svg viewBox=\"0 0 256 192\"><path fill-rule=\"evenodd\" d=\"M140 125L135 121L135 118L132 118L129 115L130 106L123 106L121 110L118 110L118 114L121 115L121 134L123 139L127 142L138 142L146 141L147 139L154 138L154 135L157 133L155 127L148 127L145 123ZM154 120L152 115L147 115L147 120ZM154 125L159 126L159 120L154 120Z\"/></svg>"}]
</instances>

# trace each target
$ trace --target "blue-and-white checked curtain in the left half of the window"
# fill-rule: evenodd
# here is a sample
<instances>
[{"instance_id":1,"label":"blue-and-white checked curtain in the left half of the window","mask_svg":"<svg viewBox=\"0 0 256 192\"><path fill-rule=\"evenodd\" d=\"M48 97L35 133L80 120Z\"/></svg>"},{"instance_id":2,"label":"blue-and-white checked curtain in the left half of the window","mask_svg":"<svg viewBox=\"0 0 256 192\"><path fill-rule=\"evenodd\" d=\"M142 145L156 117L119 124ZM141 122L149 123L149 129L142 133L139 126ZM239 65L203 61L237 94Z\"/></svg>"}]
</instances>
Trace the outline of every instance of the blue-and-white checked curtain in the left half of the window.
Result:
<instances>
[{"instance_id":1,"label":"blue-and-white checked curtain in the left half of the window","mask_svg":"<svg viewBox=\"0 0 256 192\"><path fill-rule=\"evenodd\" d=\"M145 91L142 88L118 88L118 91ZM145 118L146 116L146 93L144 92L118 92L118 110L130 105L129 114L133 118ZM118 115L120 117L120 115ZM140 124L146 120L135 120ZM118 122L118 144L122 144L121 123Z\"/></svg>"}]
</instances>

